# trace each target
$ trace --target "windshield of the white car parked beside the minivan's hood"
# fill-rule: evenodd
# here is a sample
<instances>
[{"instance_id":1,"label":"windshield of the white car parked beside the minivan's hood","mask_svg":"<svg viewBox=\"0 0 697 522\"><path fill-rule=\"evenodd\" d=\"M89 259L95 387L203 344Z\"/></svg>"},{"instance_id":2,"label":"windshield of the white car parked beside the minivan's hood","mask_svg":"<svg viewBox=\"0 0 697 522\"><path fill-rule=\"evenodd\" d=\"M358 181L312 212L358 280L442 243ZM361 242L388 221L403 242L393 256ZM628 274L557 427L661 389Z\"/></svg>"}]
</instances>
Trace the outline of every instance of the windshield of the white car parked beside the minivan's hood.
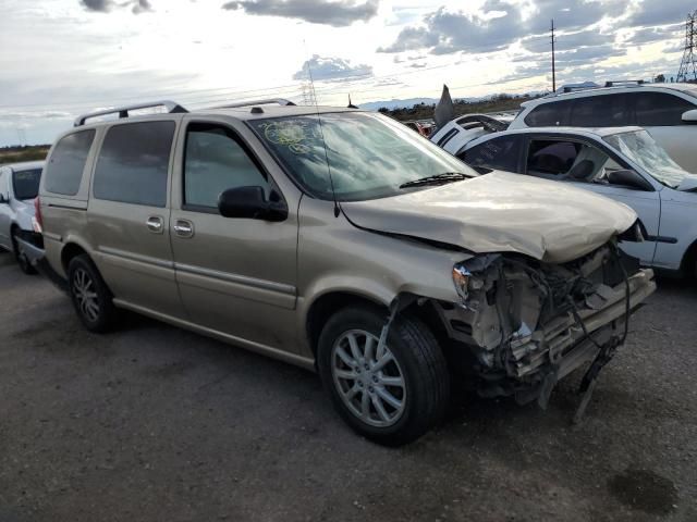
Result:
<instances>
[{"instance_id":1,"label":"windshield of the white car parked beside the minivan's hood","mask_svg":"<svg viewBox=\"0 0 697 522\"><path fill-rule=\"evenodd\" d=\"M646 130L615 134L604 140L663 185L675 188L693 176L675 163Z\"/></svg>"}]
</instances>

